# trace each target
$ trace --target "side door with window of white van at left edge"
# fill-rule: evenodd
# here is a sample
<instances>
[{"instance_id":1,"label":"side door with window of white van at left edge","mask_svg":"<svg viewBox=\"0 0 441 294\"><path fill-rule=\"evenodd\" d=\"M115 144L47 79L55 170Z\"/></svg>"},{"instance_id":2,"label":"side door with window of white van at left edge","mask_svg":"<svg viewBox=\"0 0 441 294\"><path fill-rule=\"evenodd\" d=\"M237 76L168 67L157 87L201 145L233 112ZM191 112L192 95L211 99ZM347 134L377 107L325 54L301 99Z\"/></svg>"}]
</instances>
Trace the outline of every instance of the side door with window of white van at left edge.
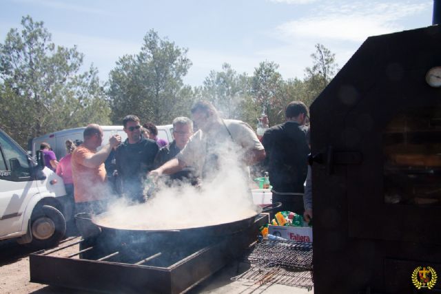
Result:
<instances>
[{"instance_id":1,"label":"side door with window of white van at left edge","mask_svg":"<svg viewBox=\"0 0 441 294\"><path fill-rule=\"evenodd\" d=\"M25 151L0 132L0 239L22 230L23 212L37 193Z\"/></svg>"}]
</instances>

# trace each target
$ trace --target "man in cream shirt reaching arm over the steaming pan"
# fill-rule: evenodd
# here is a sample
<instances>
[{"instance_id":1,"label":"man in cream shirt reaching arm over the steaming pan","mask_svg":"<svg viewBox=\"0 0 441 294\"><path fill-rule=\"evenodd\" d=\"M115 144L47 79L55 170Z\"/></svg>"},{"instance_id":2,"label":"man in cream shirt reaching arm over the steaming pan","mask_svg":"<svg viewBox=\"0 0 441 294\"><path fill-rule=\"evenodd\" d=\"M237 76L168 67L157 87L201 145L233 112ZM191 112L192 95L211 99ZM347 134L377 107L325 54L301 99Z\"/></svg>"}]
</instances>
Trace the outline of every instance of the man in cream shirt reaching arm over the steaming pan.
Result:
<instances>
[{"instance_id":1,"label":"man in cream shirt reaching arm over the steaming pan","mask_svg":"<svg viewBox=\"0 0 441 294\"><path fill-rule=\"evenodd\" d=\"M151 171L152 175L174 174L191 165L207 178L220 168L219 158L232 152L238 156L238 165L244 168L265 158L263 145L247 123L223 120L207 101L196 103L191 112L198 132L175 158Z\"/></svg>"}]
</instances>

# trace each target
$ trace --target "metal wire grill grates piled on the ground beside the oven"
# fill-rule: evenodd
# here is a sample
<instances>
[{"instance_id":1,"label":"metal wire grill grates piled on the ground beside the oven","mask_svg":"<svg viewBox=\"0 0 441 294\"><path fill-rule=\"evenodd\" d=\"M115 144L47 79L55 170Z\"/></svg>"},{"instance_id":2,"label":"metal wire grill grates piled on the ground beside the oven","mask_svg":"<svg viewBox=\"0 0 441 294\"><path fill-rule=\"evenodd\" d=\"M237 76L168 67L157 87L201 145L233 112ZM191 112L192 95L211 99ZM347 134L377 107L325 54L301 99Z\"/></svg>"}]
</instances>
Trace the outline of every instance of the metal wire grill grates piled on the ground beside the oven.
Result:
<instances>
[{"instance_id":1,"label":"metal wire grill grates piled on the ground beside the oven","mask_svg":"<svg viewBox=\"0 0 441 294\"><path fill-rule=\"evenodd\" d=\"M312 280L312 244L291 241L264 240L245 255L251 267L232 280L265 288L271 284L307 288Z\"/></svg>"}]
</instances>

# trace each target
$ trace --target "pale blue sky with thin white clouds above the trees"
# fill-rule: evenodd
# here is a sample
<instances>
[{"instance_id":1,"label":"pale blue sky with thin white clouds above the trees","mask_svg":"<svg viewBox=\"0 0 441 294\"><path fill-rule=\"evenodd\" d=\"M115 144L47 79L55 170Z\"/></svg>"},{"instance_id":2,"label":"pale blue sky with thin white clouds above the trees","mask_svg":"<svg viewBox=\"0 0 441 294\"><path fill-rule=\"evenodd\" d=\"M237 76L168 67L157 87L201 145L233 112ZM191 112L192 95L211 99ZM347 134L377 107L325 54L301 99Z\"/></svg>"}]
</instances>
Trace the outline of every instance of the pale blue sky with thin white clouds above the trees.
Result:
<instances>
[{"instance_id":1,"label":"pale blue sky with thin white clouds above the trees","mask_svg":"<svg viewBox=\"0 0 441 294\"><path fill-rule=\"evenodd\" d=\"M21 18L43 21L56 45L77 46L107 81L116 61L138 54L151 29L187 48L184 83L201 86L229 63L251 76L273 61L285 80L303 78L314 45L325 45L341 68L368 36L432 23L432 0L1 0L0 43Z\"/></svg>"}]
</instances>

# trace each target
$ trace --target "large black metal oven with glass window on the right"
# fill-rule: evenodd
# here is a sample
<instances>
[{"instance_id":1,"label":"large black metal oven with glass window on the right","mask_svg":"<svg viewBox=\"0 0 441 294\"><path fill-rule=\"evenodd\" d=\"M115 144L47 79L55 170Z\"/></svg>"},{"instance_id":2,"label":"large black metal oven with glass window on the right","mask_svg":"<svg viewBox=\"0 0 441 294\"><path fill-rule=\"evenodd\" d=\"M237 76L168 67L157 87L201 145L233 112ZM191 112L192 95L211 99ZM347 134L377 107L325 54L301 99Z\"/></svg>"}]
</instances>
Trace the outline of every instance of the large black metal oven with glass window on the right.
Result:
<instances>
[{"instance_id":1,"label":"large black metal oven with glass window on the right","mask_svg":"<svg viewBox=\"0 0 441 294\"><path fill-rule=\"evenodd\" d=\"M369 37L311 105L315 293L412 293L418 266L441 275L439 66L440 25Z\"/></svg>"}]
</instances>

